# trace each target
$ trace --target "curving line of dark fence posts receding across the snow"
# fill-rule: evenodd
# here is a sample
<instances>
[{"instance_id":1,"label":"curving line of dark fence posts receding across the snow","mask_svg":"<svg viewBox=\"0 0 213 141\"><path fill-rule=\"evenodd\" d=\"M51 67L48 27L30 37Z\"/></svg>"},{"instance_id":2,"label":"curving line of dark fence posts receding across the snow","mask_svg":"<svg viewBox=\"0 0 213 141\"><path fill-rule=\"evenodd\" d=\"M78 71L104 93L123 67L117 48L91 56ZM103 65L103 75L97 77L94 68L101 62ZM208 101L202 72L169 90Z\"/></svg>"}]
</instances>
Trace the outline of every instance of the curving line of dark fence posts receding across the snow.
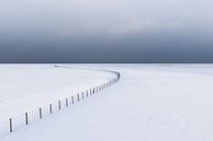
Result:
<instances>
[{"instance_id":1,"label":"curving line of dark fence posts receding across the snow","mask_svg":"<svg viewBox=\"0 0 213 141\"><path fill-rule=\"evenodd\" d=\"M19 122L16 125L15 125L15 119L9 118L9 127L8 127L9 132L13 132L15 127L18 128L18 127L23 126L23 125L27 126L29 124L34 122L37 119L42 119L44 116L53 114L54 111L56 111L56 109L60 110L61 108L69 107L70 105L74 105L75 103L81 102L85 98L88 98L90 95L97 94L98 92L113 85L121 78L121 74L116 71L110 71L110 70L103 70L103 71L114 73L115 78L113 78L109 82L102 83L102 84L97 85L97 86L91 87L91 89L88 89L85 92L77 93L76 95L72 95L70 97L65 97L64 99L58 99L58 102L49 103L49 104L47 104L46 107L44 107L44 106L38 107L37 113L25 111L24 116L23 116L24 121L22 120L22 122L19 122ZM37 118L35 118L35 117L37 117Z\"/></svg>"}]
</instances>

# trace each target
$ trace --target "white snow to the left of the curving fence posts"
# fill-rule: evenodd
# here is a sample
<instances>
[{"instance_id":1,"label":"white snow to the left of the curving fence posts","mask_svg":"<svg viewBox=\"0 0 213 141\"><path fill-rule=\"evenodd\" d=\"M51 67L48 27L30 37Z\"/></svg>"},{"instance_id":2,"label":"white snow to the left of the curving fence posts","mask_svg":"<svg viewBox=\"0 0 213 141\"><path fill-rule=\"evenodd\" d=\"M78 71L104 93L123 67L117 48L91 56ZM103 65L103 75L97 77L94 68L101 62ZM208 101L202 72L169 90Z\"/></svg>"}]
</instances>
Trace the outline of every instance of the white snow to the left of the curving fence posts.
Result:
<instances>
[{"instance_id":1,"label":"white snow to the left of the curving fence posts","mask_svg":"<svg viewBox=\"0 0 213 141\"><path fill-rule=\"evenodd\" d=\"M58 101L65 106L65 98L86 92L114 78L114 74L54 64L0 64L0 139L9 131L9 118L13 128L25 125L24 114L29 113L29 122L38 118L38 108L43 115L48 106L57 110ZM70 103L70 102L69 102Z\"/></svg>"}]
</instances>

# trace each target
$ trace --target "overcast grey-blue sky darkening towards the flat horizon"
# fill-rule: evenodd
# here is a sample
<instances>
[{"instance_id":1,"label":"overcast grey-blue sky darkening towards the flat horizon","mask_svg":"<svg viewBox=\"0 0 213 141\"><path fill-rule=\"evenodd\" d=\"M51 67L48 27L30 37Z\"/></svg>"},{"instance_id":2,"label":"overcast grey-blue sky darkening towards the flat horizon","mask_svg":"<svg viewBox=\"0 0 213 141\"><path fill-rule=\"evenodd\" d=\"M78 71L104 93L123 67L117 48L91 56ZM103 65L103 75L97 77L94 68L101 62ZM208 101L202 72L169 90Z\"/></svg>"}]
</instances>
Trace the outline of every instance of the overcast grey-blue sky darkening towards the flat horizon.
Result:
<instances>
[{"instance_id":1,"label":"overcast grey-blue sky darkening towards the flat horizon","mask_svg":"<svg viewBox=\"0 0 213 141\"><path fill-rule=\"evenodd\" d=\"M213 62L213 1L0 0L0 62Z\"/></svg>"}]
</instances>

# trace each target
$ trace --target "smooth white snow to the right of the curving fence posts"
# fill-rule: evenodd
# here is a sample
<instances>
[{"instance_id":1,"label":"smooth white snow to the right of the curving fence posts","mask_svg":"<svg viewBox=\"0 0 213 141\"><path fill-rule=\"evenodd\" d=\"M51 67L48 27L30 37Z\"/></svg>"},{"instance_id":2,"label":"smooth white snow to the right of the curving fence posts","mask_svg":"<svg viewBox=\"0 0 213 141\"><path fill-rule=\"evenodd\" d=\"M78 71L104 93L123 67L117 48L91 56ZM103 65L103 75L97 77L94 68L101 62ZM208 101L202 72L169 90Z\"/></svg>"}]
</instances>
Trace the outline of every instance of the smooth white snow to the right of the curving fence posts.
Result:
<instances>
[{"instance_id":1,"label":"smooth white snow to the right of the curving fence posts","mask_svg":"<svg viewBox=\"0 0 213 141\"><path fill-rule=\"evenodd\" d=\"M114 70L122 78L100 94L21 128L3 141L213 140L213 64L71 67Z\"/></svg>"}]
</instances>

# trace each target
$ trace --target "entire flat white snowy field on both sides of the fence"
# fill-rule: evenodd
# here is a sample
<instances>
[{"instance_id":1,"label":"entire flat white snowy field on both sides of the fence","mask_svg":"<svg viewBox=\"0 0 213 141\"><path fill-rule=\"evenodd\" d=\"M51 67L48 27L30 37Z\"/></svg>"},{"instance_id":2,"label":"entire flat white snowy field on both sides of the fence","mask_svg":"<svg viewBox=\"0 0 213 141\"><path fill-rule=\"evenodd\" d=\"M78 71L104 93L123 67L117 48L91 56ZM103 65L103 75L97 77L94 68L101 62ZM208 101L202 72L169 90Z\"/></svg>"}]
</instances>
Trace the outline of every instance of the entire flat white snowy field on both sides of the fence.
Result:
<instances>
[{"instance_id":1,"label":"entire flat white snowy field on both sides of the fence","mask_svg":"<svg viewBox=\"0 0 213 141\"><path fill-rule=\"evenodd\" d=\"M26 99L41 99L33 101L35 104L43 101L45 103L60 94L70 94L71 87L87 87L101 83L100 81L108 81L111 77L105 72L88 72L80 68L119 71L121 80L101 94L92 95L81 103L21 128L2 138L2 141L213 140L213 64L70 64L70 67L79 69L75 73L71 69L48 66L41 70L32 66L26 68L29 71L23 72L20 66L13 69L1 66L0 90L3 105L0 107L1 115L10 108L15 110L16 107L18 110L18 105L22 105L20 104L22 102L29 104ZM79 74L80 71L87 73ZM41 84L40 79L44 84ZM72 79L79 80L78 86ZM37 90L35 86L43 89ZM45 93L42 93L44 91ZM16 96L14 92L19 95ZM24 92L31 92L32 97L27 98L29 93ZM7 103L11 107L8 107Z\"/></svg>"}]
</instances>

